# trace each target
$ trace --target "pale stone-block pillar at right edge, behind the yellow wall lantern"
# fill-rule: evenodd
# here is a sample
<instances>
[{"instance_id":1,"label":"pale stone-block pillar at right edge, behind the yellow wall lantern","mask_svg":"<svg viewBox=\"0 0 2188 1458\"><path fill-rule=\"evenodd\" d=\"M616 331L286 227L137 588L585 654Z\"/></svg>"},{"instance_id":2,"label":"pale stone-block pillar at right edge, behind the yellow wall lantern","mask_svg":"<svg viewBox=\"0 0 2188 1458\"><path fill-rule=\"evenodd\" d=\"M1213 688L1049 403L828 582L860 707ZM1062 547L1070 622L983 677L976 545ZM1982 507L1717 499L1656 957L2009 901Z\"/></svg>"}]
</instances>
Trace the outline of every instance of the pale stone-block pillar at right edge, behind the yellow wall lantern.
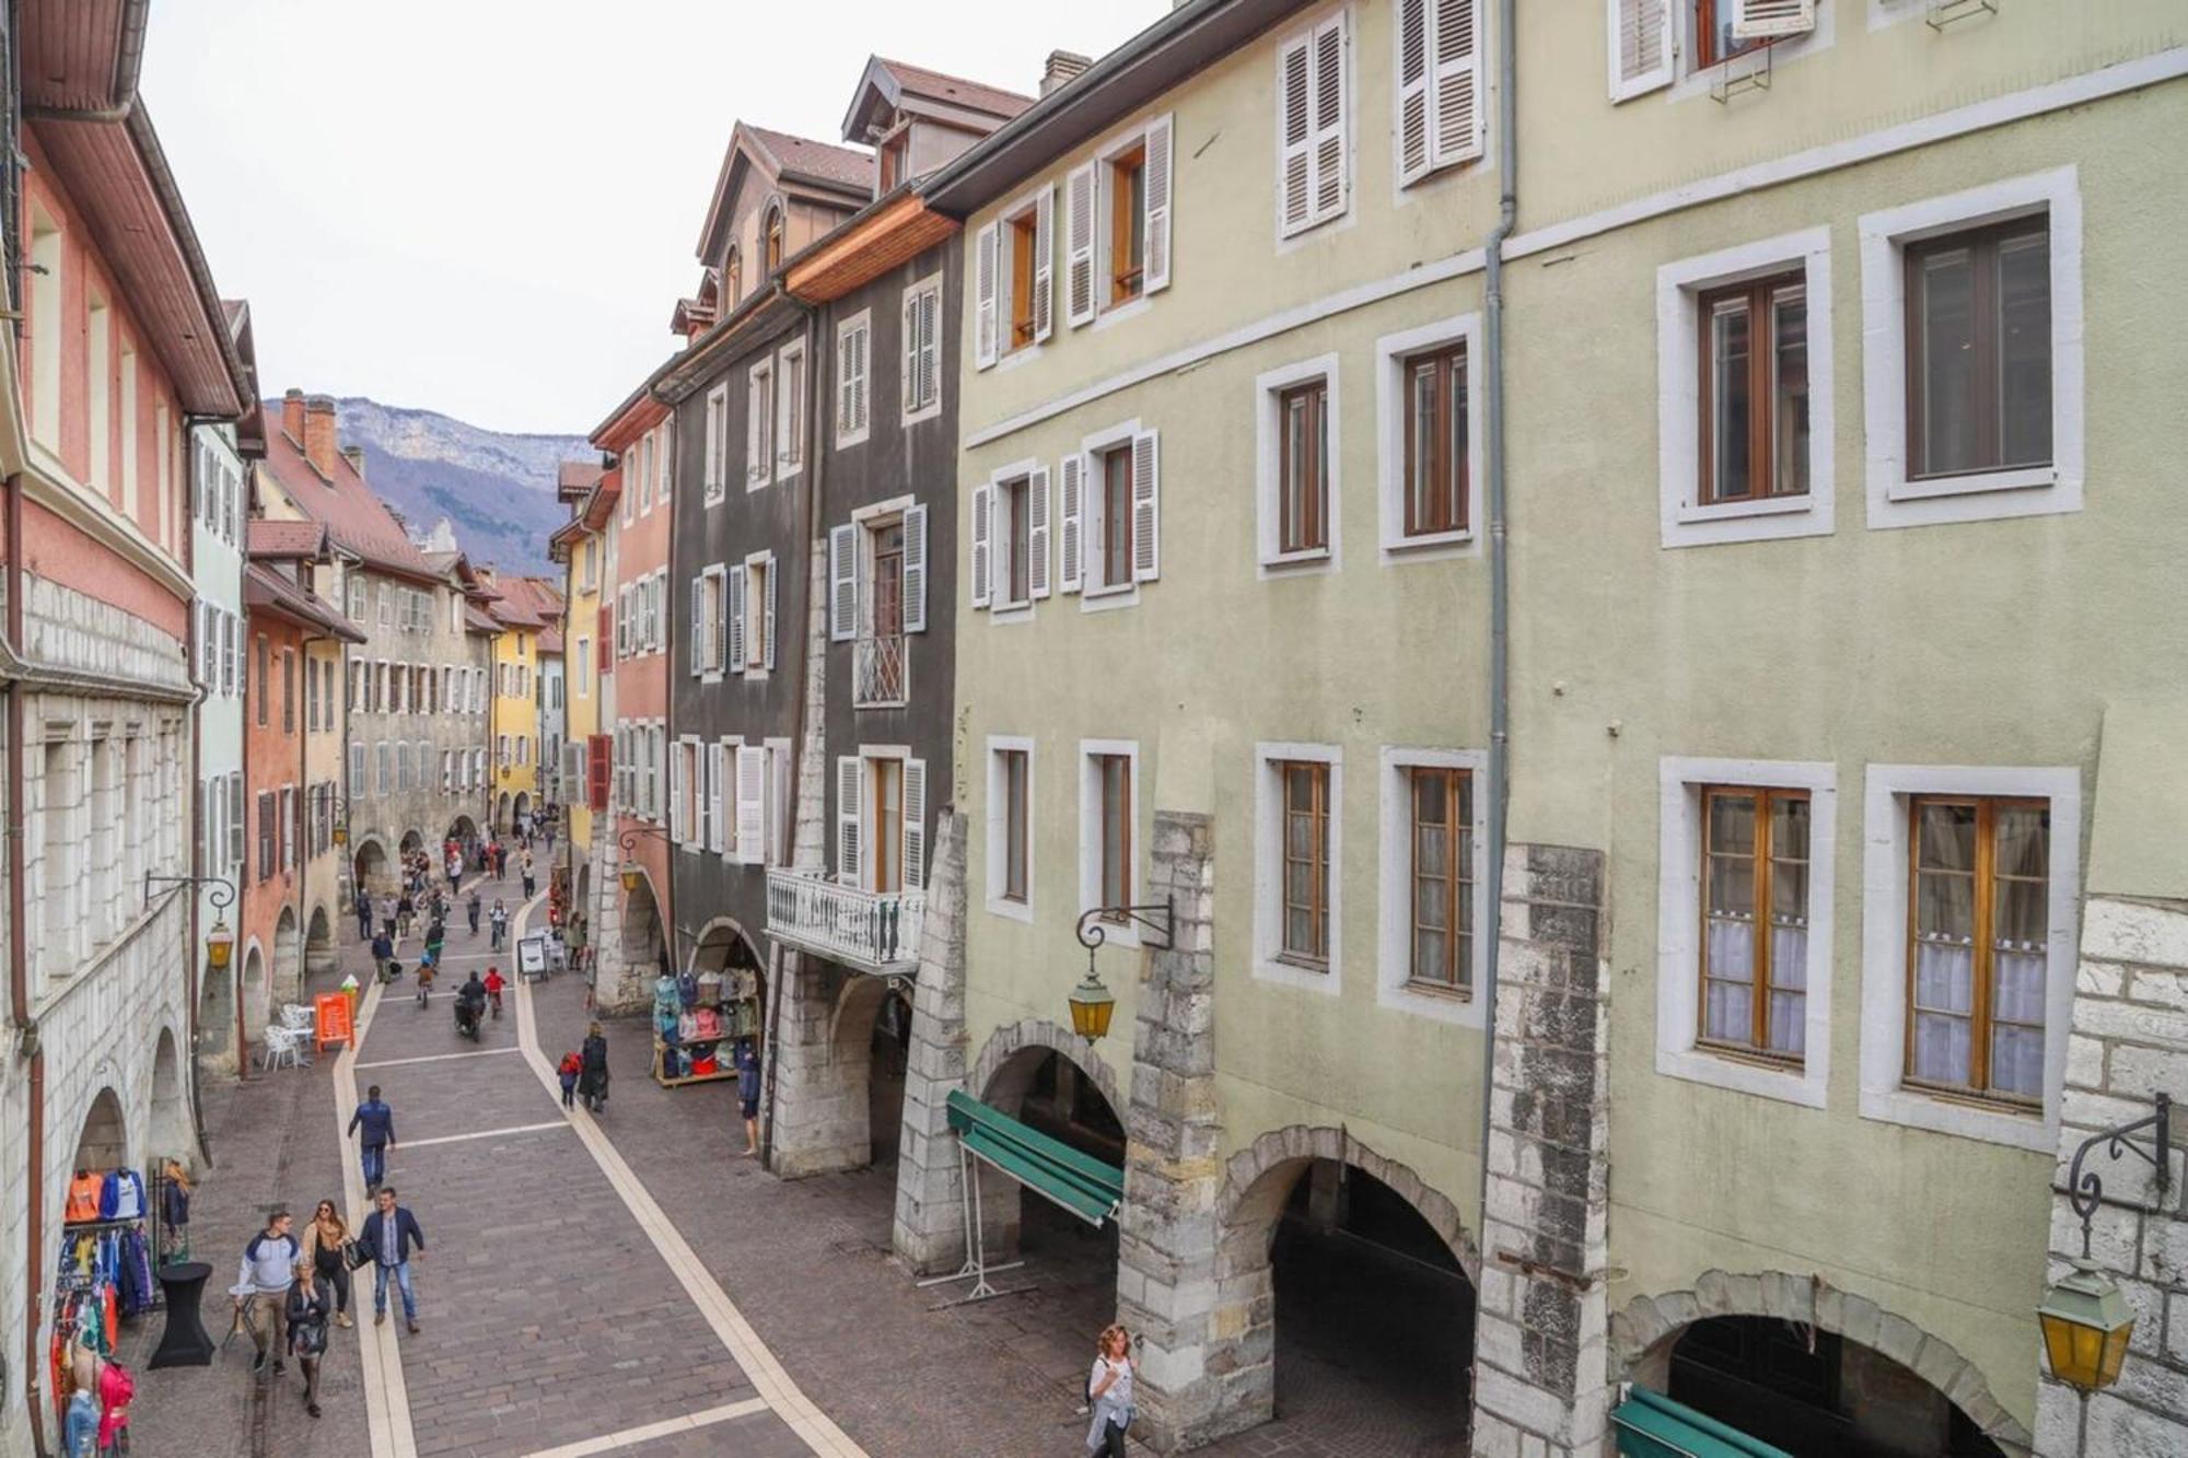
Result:
<instances>
[{"instance_id":1,"label":"pale stone-block pillar at right edge, behind the yellow wall lantern","mask_svg":"<svg viewBox=\"0 0 2188 1458\"><path fill-rule=\"evenodd\" d=\"M2107 718L2107 733L2111 720ZM2109 753L2109 749L2107 749ZM2092 880L2094 880L2092 871ZM2098 1130L2153 1114L2151 1095L2188 1099L2188 900L2096 895L2083 902L2081 968L2059 1108L2059 1173ZM2173 1182L2098 1145L2083 1169L2105 1180L2090 1222L2090 1261L2135 1311L2120 1381L2081 1397L2039 1357L2035 1451L2041 1458L2142 1458L2188 1451L2188 1110L2173 1114ZM2149 1143L2144 1141L2144 1147ZM2140 1208L2138 1208L2140 1206ZM2052 1195L2050 1278L2081 1259L2081 1217ZM1976 1421L1982 1414L1971 1412Z\"/></svg>"}]
</instances>

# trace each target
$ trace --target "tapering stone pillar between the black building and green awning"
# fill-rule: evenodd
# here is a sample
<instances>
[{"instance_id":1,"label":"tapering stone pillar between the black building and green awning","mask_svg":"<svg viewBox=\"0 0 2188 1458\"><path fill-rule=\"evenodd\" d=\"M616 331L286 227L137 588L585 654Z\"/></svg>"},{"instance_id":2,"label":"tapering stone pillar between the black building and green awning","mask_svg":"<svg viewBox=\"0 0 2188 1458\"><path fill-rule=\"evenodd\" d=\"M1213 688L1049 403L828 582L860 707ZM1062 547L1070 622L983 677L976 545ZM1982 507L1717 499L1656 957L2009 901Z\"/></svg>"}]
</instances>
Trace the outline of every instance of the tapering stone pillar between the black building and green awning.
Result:
<instances>
[{"instance_id":1,"label":"tapering stone pillar between the black building and green awning","mask_svg":"<svg viewBox=\"0 0 2188 1458\"><path fill-rule=\"evenodd\" d=\"M934 821L928 909L912 987L912 1049L904 1068L904 1132L897 1145L897 1259L928 1276L965 1263L965 1184L947 1099L965 1088L965 817Z\"/></svg>"}]
</instances>

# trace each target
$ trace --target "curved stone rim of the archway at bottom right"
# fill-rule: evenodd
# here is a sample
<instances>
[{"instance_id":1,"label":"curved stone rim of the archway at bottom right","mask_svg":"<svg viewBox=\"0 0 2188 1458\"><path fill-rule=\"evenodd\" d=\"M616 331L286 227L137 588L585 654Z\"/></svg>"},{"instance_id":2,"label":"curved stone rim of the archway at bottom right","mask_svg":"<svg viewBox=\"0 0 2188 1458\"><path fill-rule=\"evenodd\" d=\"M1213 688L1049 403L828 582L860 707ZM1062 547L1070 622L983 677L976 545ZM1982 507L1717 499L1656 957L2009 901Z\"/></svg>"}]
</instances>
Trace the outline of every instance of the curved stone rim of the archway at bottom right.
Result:
<instances>
[{"instance_id":1,"label":"curved stone rim of the archway at bottom right","mask_svg":"<svg viewBox=\"0 0 2188 1458\"><path fill-rule=\"evenodd\" d=\"M1610 1316L1610 1379L1667 1390L1678 1338L1715 1316L1770 1316L1866 1346L1943 1392L1945 1401L2009 1454L2030 1451L2028 1430L1998 1403L1982 1368L1952 1342L1812 1274L1707 1270L1694 1289L1634 1296Z\"/></svg>"}]
</instances>

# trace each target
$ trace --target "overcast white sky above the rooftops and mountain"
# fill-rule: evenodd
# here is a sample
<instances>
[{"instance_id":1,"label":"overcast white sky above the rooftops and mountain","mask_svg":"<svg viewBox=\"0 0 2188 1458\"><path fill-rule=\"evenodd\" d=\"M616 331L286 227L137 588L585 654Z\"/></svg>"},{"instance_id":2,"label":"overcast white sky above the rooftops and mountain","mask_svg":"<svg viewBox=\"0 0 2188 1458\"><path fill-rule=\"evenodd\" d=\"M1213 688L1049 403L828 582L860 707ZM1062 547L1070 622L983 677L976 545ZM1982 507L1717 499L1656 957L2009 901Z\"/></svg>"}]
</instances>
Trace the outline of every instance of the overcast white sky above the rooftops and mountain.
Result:
<instances>
[{"instance_id":1,"label":"overcast white sky above the rooftops and mountain","mask_svg":"<svg viewBox=\"0 0 2188 1458\"><path fill-rule=\"evenodd\" d=\"M142 94L258 377L584 433L672 348L731 123L869 55L1031 94L1168 0L153 0Z\"/></svg>"}]
</instances>

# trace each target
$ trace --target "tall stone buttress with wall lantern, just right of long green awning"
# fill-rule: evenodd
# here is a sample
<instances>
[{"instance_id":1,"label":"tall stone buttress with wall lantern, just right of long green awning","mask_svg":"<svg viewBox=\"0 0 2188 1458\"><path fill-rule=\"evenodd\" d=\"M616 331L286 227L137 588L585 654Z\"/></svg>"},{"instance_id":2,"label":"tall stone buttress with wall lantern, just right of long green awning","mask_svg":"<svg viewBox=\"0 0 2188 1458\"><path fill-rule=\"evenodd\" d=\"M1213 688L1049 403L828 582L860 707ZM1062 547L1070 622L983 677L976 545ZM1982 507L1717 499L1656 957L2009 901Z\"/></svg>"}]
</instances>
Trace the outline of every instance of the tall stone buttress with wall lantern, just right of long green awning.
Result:
<instances>
[{"instance_id":1,"label":"tall stone buttress with wall lantern, just right of long green awning","mask_svg":"<svg viewBox=\"0 0 2188 1458\"><path fill-rule=\"evenodd\" d=\"M1155 812L1147 900L1175 898L1171 950L1149 952L1131 1029L1118 1320L1140 1335L1149 1440L1177 1451L1225 1432L1217 1316L1214 821Z\"/></svg>"}]
</instances>

